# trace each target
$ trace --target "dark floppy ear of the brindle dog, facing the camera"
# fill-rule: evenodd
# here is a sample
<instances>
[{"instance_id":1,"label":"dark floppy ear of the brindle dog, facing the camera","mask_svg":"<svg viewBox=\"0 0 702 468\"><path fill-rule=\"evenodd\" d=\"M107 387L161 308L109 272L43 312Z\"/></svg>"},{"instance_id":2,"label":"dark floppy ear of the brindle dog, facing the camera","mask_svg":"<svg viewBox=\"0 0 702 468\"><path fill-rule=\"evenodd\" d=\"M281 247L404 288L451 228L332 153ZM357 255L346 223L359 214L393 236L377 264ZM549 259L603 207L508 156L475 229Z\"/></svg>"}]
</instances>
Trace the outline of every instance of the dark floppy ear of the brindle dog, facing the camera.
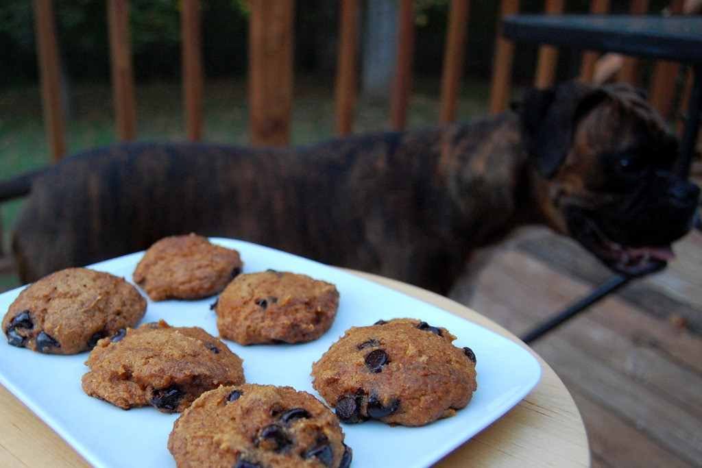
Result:
<instances>
[{"instance_id":1,"label":"dark floppy ear of the brindle dog, facing the camera","mask_svg":"<svg viewBox=\"0 0 702 468\"><path fill-rule=\"evenodd\" d=\"M527 156L545 178L552 178L563 163L579 119L605 97L600 88L574 82L531 88L512 105Z\"/></svg>"}]
</instances>

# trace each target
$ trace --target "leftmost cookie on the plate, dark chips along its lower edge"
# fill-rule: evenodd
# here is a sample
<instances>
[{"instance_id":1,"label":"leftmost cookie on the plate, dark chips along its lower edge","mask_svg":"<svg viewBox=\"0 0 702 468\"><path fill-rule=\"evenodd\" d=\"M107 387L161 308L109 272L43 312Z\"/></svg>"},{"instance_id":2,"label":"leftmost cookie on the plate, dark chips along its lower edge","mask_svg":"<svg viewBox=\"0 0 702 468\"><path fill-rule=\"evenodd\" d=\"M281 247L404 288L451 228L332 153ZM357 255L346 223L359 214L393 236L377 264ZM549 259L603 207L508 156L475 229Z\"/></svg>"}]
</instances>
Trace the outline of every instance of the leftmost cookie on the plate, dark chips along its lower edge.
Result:
<instances>
[{"instance_id":1,"label":"leftmost cookie on the plate, dark chips along its lower edge","mask_svg":"<svg viewBox=\"0 0 702 468\"><path fill-rule=\"evenodd\" d=\"M22 290L2 321L8 343L46 354L77 354L136 326L146 300L124 278L87 268L44 276Z\"/></svg>"}]
</instances>

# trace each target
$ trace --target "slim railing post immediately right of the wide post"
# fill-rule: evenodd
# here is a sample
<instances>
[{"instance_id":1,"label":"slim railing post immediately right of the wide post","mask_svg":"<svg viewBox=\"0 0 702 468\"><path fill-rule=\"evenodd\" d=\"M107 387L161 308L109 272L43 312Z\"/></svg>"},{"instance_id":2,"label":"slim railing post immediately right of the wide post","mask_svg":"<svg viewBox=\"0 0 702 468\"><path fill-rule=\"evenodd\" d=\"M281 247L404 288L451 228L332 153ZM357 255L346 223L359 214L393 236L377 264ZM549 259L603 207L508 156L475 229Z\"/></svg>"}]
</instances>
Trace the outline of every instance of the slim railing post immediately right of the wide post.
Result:
<instances>
[{"instance_id":1,"label":"slim railing post immediately right of the wide post","mask_svg":"<svg viewBox=\"0 0 702 468\"><path fill-rule=\"evenodd\" d=\"M341 0L336 72L336 134L352 132L358 64L359 0Z\"/></svg>"}]
</instances>

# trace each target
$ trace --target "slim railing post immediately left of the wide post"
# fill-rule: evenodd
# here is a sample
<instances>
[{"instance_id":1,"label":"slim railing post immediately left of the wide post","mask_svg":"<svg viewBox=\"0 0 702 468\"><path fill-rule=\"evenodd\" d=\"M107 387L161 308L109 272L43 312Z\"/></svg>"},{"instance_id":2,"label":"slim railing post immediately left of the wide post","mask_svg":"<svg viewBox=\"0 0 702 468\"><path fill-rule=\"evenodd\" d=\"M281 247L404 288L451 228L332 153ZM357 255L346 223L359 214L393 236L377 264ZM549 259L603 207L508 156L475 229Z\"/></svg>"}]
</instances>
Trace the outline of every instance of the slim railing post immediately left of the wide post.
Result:
<instances>
[{"instance_id":1,"label":"slim railing post immediately left of the wide post","mask_svg":"<svg viewBox=\"0 0 702 468\"><path fill-rule=\"evenodd\" d=\"M200 0L183 0L183 108L189 140L202 138L202 34Z\"/></svg>"}]
</instances>

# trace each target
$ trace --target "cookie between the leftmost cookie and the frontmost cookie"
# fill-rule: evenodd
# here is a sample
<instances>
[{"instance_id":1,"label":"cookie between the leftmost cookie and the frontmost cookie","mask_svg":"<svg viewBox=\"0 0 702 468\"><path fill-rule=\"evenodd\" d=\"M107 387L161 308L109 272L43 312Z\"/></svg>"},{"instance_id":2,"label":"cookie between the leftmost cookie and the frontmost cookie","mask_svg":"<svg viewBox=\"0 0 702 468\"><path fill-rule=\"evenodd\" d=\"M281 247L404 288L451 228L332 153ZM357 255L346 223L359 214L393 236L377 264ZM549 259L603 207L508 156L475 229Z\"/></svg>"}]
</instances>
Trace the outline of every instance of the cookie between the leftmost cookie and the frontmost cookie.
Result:
<instances>
[{"instance_id":1,"label":"cookie between the leftmost cookie and the frontmost cookie","mask_svg":"<svg viewBox=\"0 0 702 468\"><path fill-rule=\"evenodd\" d=\"M86 361L83 390L124 410L150 405L176 413L207 390L244 383L241 363L202 328L145 323L98 342Z\"/></svg>"}]
</instances>

